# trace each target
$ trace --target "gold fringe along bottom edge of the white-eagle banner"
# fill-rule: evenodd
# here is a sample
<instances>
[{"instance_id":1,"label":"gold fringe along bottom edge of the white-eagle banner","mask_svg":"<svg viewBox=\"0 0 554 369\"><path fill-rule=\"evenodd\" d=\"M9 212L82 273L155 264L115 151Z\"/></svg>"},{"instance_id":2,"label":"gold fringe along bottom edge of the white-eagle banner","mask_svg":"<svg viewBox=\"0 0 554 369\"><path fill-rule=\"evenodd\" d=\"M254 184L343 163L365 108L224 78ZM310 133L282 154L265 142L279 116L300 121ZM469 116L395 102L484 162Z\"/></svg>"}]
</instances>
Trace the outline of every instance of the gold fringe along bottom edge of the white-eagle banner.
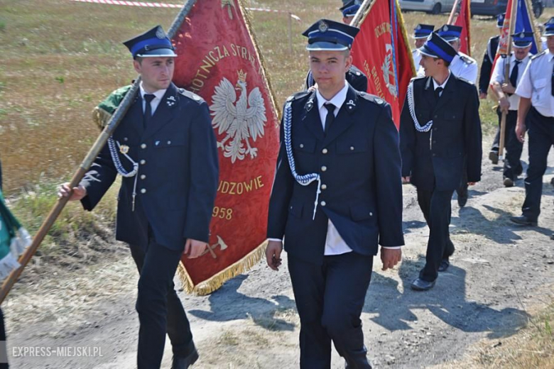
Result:
<instances>
[{"instance_id":1,"label":"gold fringe along bottom edge of the white-eagle banner","mask_svg":"<svg viewBox=\"0 0 554 369\"><path fill-rule=\"evenodd\" d=\"M254 250L244 256L244 258L237 261L237 263L229 265L221 272L218 272L213 277L210 277L198 285L194 285L194 283L192 283L192 279L190 279L190 275L183 266L183 263L179 263L178 275L181 283L183 283L183 289L187 293L194 293L199 296L205 296L206 294L214 292L221 287L224 282L227 282L231 278L237 277L237 275L241 275L244 272L248 272L252 267L254 267L254 265L259 263L261 258L266 255L266 246L267 241L264 241L264 243L261 243L260 246L254 248Z\"/></svg>"}]
</instances>

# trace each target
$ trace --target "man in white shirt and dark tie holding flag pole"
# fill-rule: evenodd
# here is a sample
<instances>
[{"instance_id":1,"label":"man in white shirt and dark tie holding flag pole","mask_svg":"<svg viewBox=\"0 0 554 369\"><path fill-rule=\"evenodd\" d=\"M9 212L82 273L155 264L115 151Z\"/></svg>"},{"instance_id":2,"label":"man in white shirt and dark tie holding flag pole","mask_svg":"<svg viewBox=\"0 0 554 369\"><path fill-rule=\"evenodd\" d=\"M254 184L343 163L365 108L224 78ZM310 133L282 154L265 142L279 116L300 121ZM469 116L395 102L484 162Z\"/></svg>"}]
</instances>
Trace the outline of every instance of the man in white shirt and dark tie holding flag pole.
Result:
<instances>
[{"instance_id":1,"label":"man in white shirt and dark tie holding flag pole","mask_svg":"<svg viewBox=\"0 0 554 369\"><path fill-rule=\"evenodd\" d=\"M502 112L506 112L506 133L504 145L506 158L504 160L504 186L512 187L518 175L523 172L521 166L521 151L523 143L516 137L516 121L518 117L519 97L514 94L523 71L529 62L529 51L533 44L532 32L521 32L511 35L513 52L510 57L501 57L496 62L491 75L491 87L498 98L499 126ZM509 68L509 79L506 81L506 67Z\"/></svg>"}]
</instances>

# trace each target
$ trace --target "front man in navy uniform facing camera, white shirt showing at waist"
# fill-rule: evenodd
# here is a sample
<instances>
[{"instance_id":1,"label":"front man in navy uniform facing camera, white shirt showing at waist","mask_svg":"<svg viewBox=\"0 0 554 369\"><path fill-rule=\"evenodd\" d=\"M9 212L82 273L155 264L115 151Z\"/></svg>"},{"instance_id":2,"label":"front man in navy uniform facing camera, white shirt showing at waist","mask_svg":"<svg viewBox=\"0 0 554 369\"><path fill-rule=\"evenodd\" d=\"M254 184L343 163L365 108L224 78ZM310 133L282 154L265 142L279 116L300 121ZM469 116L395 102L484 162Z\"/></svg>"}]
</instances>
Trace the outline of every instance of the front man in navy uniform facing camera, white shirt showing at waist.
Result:
<instances>
[{"instance_id":1,"label":"front man in navy uniform facing camera, white shirt showing at waist","mask_svg":"<svg viewBox=\"0 0 554 369\"><path fill-rule=\"evenodd\" d=\"M269 202L266 259L283 238L300 315L300 368L330 368L331 342L347 368L371 368L360 314L381 247L384 270L401 259L398 131L385 101L344 79L358 28L317 21L308 37L317 89L289 97Z\"/></svg>"}]
</instances>

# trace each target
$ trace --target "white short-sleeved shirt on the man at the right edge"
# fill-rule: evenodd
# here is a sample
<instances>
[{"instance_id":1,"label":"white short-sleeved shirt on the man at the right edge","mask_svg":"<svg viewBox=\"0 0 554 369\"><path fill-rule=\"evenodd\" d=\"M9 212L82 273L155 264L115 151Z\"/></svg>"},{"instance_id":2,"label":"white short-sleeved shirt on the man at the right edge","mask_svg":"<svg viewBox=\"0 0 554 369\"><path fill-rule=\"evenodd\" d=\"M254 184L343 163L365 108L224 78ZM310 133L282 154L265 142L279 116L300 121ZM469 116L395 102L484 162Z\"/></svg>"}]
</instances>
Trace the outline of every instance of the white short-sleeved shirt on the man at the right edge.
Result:
<instances>
[{"instance_id":1,"label":"white short-sleeved shirt on the man at the right edge","mask_svg":"<svg viewBox=\"0 0 554 369\"><path fill-rule=\"evenodd\" d=\"M554 116L554 97L552 96L552 70L554 55L546 49L544 55L530 60L518 82L516 94L531 99L531 105L542 116Z\"/></svg>"}]
</instances>

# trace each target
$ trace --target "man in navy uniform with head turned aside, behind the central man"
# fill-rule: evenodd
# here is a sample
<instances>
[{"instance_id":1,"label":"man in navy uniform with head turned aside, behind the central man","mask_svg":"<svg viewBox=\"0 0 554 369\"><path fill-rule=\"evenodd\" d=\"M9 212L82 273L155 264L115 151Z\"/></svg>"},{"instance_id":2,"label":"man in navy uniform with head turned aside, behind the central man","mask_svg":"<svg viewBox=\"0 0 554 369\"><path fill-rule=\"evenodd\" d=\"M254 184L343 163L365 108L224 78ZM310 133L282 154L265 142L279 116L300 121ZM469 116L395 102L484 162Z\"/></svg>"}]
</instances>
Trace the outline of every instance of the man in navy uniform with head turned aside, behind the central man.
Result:
<instances>
[{"instance_id":1,"label":"man in navy uniform with head turned aside, behind the central man","mask_svg":"<svg viewBox=\"0 0 554 369\"><path fill-rule=\"evenodd\" d=\"M430 229L425 267L411 285L423 291L450 265L450 199L462 180L465 156L469 184L481 179L482 148L477 89L448 69L456 50L433 33L420 52L425 77L408 86L400 143L402 176L417 188Z\"/></svg>"}]
</instances>

